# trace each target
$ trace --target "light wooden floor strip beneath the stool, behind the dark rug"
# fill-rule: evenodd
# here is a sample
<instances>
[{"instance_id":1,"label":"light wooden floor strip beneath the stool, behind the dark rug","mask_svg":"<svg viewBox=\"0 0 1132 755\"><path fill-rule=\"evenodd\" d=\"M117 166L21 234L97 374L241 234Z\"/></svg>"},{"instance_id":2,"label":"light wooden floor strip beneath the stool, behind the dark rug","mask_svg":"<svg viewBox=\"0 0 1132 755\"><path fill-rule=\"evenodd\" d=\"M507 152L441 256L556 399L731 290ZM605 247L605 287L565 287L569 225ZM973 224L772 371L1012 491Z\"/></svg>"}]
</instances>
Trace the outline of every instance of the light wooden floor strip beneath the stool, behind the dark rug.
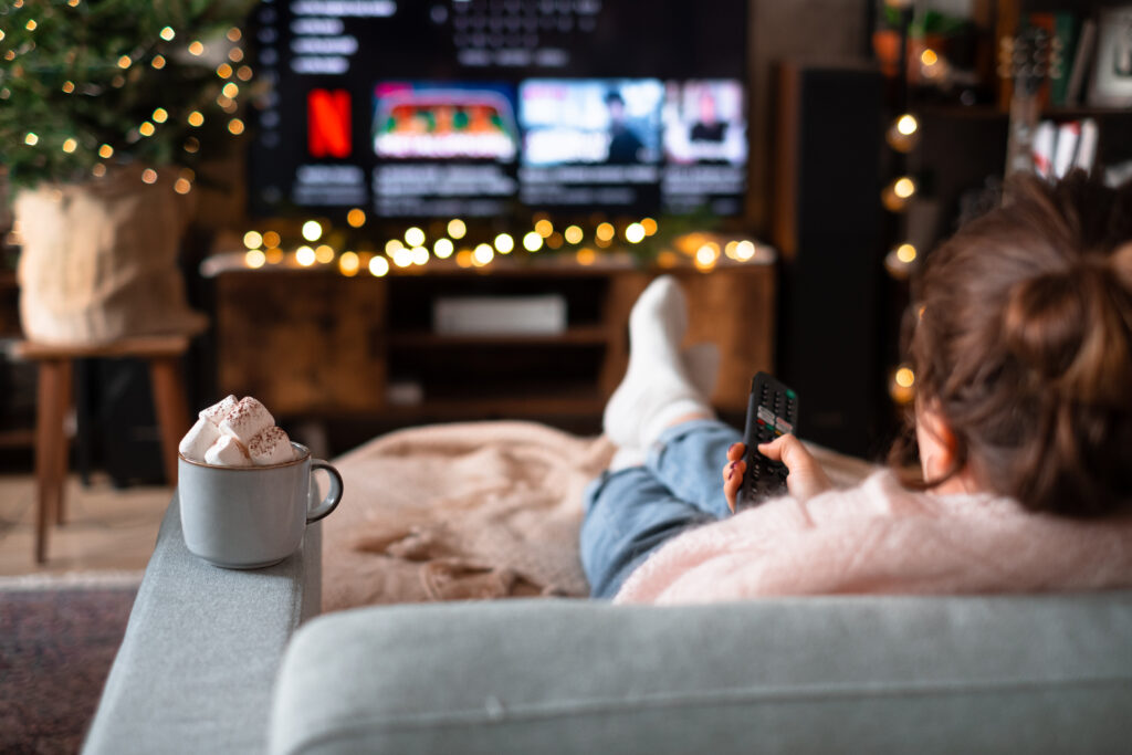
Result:
<instances>
[{"instance_id":1,"label":"light wooden floor strip beneath the stool, behind the dark rug","mask_svg":"<svg viewBox=\"0 0 1132 755\"><path fill-rule=\"evenodd\" d=\"M35 478L0 475L0 576L121 572L145 568L172 488L115 490L104 475L84 488L67 480L67 523L48 534L48 561L36 564Z\"/></svg>"}]
</instances>

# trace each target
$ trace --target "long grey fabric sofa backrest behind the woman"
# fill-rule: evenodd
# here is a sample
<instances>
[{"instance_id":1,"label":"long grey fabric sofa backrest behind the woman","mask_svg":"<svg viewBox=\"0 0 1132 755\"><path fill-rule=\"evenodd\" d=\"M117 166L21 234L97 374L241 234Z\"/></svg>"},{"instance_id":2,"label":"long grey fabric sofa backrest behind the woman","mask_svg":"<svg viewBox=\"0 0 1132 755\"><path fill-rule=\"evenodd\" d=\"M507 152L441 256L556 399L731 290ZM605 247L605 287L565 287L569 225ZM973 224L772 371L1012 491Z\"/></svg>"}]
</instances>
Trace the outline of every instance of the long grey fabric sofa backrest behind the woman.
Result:
<instances>
[{"instance_id":1,"label":"long grey fabric sofa backrest behind the woman","mask_svg":"<svg viewBox=\"0 0 1132 755\"><path fill-rule=\"evenodd\" d=\"M1132 593L367 608L292 640L275 755L1118 752Z\"/></svg>"}]
</instances>

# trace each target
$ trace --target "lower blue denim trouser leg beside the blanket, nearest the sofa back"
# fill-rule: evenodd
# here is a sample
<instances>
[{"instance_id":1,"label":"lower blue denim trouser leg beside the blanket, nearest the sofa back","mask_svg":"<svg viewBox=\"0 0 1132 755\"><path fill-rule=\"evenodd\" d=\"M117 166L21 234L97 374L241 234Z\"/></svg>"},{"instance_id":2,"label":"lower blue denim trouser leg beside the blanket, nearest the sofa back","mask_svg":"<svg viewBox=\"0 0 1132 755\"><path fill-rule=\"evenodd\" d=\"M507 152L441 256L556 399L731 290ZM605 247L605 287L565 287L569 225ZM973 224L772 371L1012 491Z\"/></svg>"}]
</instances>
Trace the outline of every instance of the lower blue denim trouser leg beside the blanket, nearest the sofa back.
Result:
<instances>
[{"instance_id":1,"label":"lower blue denim trouser leg beside the blanket, nearest the sofa back","mask_svg":"<svg viewBox=\"0 0 1132 755\"><path fill-rule=\"evenodd\" d=\"M634 466L604 472L585 491L582 568L594 598L612 598L649 555L691 526L711 521Z\"/></svg>"}]
</instances>

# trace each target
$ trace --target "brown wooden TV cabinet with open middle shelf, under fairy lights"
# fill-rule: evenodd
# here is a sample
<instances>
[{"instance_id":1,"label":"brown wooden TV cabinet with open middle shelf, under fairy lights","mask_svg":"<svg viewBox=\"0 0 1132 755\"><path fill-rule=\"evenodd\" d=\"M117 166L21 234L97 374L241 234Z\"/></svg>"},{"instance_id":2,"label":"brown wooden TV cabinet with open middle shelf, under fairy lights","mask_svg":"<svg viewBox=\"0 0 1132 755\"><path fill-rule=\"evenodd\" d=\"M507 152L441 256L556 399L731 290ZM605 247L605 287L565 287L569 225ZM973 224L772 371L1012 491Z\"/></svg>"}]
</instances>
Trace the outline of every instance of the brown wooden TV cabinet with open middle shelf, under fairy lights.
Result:
<instances>
[{"instance_id":1,"label":"brown wooden TV cabinet with open middle shelf, under fairy lights","mask_svg":"<svg viewBox=\"0 0 1132 755\"><path fill-rule=\"evenodd\" d=\"M293 418L600 418L628 358L628 314L658 269L499 260L490 272L430 264L415 274L345 277L329 269L258 269L217 278L218 387ZM713 402L746 409L751 376L772 368L774 266L669 272L688 294L688 343L722 352ZM438 297L555 294L560 333L441 335Z\"/></svg>"}]
</instances>

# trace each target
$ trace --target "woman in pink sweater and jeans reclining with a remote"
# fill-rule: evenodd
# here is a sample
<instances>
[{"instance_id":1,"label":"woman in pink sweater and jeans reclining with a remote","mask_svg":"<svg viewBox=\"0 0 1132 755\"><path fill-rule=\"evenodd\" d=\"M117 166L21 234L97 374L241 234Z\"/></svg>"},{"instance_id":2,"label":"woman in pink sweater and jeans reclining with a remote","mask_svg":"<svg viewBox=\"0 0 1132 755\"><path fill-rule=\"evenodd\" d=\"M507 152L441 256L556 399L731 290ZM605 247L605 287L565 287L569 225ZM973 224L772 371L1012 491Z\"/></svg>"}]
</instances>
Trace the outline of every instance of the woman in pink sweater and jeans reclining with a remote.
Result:
<instances>
[{"instance_id":1,"label":"woman in pink sweater and jeans reclining with a remote","mask_svg":"<svg viewBox=\"0 0 1132 755\"><path fill-rule=\"evenodd\" d=\"M789 469L789 496L732 516L744 448L706 400L718 360L679 351L683 294L658 278L606 409L619 451L586 494L593 595L1132 586L1132 183L1014 183L929 257L918 304L923 480L834 490L783 436L760 451Z\"/></svg>"}]
</instances>

